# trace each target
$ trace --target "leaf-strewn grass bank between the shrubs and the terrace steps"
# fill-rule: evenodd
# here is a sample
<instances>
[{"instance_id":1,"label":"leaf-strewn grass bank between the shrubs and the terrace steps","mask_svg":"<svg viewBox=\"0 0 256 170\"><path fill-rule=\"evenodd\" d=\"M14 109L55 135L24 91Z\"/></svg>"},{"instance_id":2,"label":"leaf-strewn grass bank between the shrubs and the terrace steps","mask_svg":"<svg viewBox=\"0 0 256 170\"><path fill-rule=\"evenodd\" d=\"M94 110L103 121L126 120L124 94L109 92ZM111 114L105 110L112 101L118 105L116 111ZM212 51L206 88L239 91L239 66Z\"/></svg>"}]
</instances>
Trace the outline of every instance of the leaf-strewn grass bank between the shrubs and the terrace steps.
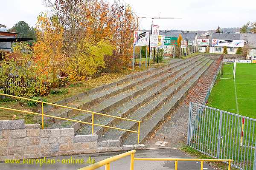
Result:
<instances>
[{"instance_id":1,"label":"leaf-strewn grass bank between the shrubs and the terrace steps","mask_svg":"<svg viewBox=\"0 0 256 170\"><path fill-rule=\"evenodd\" d=\"M161 65L165 65L169 63L170 60L171 59L165 59L163 62L156 63L155 65L153 65L153 61L151 61L150 67L159 67ZM70 96L99 87L101 85L118 81L119 79L122 79L128 74L133 74L135 72L143 71L146 69L148 69L148 67L145 68L145 62L144 62L144 65L142 65L141 68L136 66L134 71L131 68L128 68L128 69L122 69L120 72L117 72L117 73L104 74L101 77L90 78L86 81L83 81L74 85L70 85L69 87L58 89L60 91L64 91L65 93L49 94L47 96L43 96L42 98L45 99L47 102L55 103L62 99L66 99ZM0 99L0 106L6 107L6 108L18 109L18 110L32 111L32 112L37 112L38 109L40 108L40 106L28 106L14 99ZM25 119L26 123L41 123L41 118L33 114L30 115L26 113L17 113L14 111L0 110L0 120L11 120L11 119Z\"/></svg>"}]
</instances>

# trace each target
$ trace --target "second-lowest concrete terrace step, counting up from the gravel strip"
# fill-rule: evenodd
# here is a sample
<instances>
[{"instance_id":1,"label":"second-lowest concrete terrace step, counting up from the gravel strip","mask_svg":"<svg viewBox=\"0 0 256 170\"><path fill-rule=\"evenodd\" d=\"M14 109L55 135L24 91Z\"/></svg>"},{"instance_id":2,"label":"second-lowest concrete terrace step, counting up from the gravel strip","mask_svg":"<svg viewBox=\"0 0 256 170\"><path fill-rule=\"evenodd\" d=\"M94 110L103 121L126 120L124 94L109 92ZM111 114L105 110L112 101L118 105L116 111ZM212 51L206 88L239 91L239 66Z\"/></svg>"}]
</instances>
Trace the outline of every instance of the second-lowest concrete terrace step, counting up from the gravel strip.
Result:
<instances>
[{"instance_id":1,"label":"second-lowest concrete terrace step, counting up from the gravel strip","mask_svg":"<svg viewBox=\"0 0 256 170\"><path fill-rule=\"evenodd\" d=\"M189 72L189 74L187 74L182 79L180 79L177 83L175 83L175 85L173 85L170 88L167 88L165 91L161 93L161 95L157 96L155 99L151 100L147 104L141 106L136 111L129 114L127 117L129 119L136 119L136 120L144 120L150 117L150 115L154 113L154 111L156 111L158 108L161 107L161 105L167 102L168 99L170 99L174 94L176 94L179 91L179 89L182 88L187 82L189 82L190 79L192 79L196 74L198 74L199 71L201 71L202 69L208 68L208 65L210 63L212 63L212 61L210 61L210 59L207 59L200 66L198 66L197 68L194 68L191 72ZM117 124L116 127L136 130L137 123L123 121ZM126 131L109 129L104 133L104 135L99 136L99 140L104 141L108 139L119 139L120 141L122 141L122 139L125 139L125 137L128 135L129 133Z\"/></svg>"}]
</instances>

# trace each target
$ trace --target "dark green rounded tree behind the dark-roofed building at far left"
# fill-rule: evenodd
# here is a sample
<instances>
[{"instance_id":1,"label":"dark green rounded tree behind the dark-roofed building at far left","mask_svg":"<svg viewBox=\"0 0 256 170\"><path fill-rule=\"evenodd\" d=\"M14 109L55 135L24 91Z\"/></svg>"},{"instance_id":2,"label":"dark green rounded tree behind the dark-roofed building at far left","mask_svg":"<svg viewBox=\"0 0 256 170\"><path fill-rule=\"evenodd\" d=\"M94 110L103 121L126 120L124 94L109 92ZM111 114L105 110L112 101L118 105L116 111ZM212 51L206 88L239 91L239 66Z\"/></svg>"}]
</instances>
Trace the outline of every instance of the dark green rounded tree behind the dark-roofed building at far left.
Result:
<instances>
[{"instance_id":1,"label":"dark green rounded tree behind the dark-roofed building at far left","mask_svg":"<svg viewBox=\"0 0 256 170\"><path fill-rule=\"evenodd\" d=\"M33 39L32 41L28 41L28 44L30 46L32 46L33 42L35 42L36 40L35 28L33 27L30 28L29 24L27 24L24 21L19 21L7 31L22 33L22 34L17 34L17 38L32 38Z\"/></svg>"}]
</instances>

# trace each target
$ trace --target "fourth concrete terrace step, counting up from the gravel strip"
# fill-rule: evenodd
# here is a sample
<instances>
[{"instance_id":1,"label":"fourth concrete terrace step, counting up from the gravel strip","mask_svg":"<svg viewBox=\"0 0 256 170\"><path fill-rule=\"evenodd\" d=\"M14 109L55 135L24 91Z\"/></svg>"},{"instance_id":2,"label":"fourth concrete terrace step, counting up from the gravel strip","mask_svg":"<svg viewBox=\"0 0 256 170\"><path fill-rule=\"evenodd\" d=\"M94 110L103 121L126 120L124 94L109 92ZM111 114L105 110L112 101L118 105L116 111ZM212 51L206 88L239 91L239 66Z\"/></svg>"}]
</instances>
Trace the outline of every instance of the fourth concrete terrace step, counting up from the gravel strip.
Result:
<instances>
[{"instance_id":1,"label":"fourth concrete terrace step, counting up from the gravel strip","mask_svg":"<svg viewBox=\"0 0 256 170\"><path fill-rule=\"evenodd\" d=\"M207 59L207 58L203 58L203 57L199 57L197 60L195 59L188 62L187 64L177 67L175 69L172 70L172 73L167 72L166 74L162 74L161 77L156 77L154 79L151 79L148 82L144 82L142 85L133 88L131 90L125 91L123 93L120 93L116 96L113 96L109 99L106 99L105 101L101 102L99 105L95 105L93 106L90 110L91 111L95 111L95 112L101 112L101 113L105 113L105 112L109 112L111 110L113 110L115 107L122 105L124 102L127 102L130 99L134 99L134 97L145 93L146 91L148 91L148 89L151 89L154 86L159 85L160 83L162 83L163 81L165 81L166 79L169 79L170 77L175 76L175 74L177 74L178 72L186 69L187 67L189 67L190 65L195 65L195 63L199 62L201 59ZM95 115L95 119L97 117L99 117L100 115ZM103 116L106 119L110 118L110 117L106 117ZM76 119L76 120L81 120L84 122L91 122L91 114L90 113L81 113L78 116L72 117L72 119ZM104 118L103 118L104 119ZM96 123L96 122L95 122ZM52 125L52 127L73 127L75 128L75 130L80 129L80 127L82 126L86 126L85 124L80 124L80 123L70 123L70 122L61 122L58 124L54 124ZM91 128L91 127L89 127Z\"/></svg>"}]
</instances>

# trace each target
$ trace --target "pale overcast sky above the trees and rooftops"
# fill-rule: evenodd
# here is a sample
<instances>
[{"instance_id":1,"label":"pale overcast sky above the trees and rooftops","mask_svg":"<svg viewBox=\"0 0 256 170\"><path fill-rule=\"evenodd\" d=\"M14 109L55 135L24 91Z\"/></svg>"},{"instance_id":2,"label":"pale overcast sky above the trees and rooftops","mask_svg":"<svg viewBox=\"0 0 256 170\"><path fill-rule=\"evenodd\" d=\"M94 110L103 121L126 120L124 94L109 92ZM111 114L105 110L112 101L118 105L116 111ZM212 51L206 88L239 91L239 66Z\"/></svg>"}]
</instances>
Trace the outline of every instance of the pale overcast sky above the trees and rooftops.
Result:
<instances>
[{"instance_id":1,"label":"pale overcast sky above the trees and rooftops","mask_svg":"<svg viewBox=\"0 0 256 170\"><path fill-rule=\"evenodd\" d=\"M113 0L111 0L113 1ZM155 19L161 30L210 30L241 27L256 21L256 0L124 0L139 17L180 17ZM47 9L42 0L1 0L0 24L11 28L22 20L35 26L37 16ZM152 19L139 19L141 29L150 29Z\"/></svg>"}]
</instances>

